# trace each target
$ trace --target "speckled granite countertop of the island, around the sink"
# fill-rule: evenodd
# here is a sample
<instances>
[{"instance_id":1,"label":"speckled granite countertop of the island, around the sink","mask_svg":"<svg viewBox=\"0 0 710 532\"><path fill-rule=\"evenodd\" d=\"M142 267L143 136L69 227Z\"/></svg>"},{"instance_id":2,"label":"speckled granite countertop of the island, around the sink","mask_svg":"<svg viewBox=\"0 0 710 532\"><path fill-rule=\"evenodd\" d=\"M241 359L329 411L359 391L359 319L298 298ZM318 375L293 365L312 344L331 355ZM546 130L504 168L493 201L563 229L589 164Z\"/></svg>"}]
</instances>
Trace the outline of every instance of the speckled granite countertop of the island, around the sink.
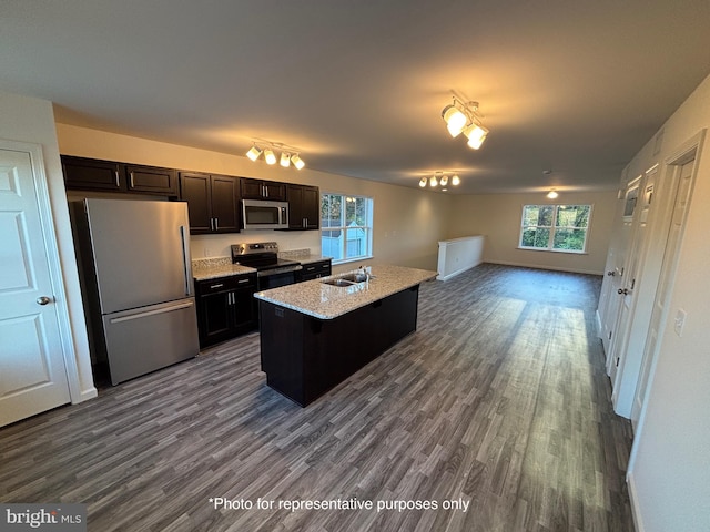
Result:
<instances>
[{"instance_id":1,"label":"speckled granite countertop of the island, around the sink","mask_svg":"<svg viewBox=\"0 0 710 532\"><path fill-rule=\"evenodd\" d=\"M257 291L254 297L315 318L333 319L433 279L437 273L402 266L377 265L372 266L369 280L356 285L333 286L322 283L324 279L333 279L342 277L342 275L344 274Z\"/></svg>"}]
</instances>

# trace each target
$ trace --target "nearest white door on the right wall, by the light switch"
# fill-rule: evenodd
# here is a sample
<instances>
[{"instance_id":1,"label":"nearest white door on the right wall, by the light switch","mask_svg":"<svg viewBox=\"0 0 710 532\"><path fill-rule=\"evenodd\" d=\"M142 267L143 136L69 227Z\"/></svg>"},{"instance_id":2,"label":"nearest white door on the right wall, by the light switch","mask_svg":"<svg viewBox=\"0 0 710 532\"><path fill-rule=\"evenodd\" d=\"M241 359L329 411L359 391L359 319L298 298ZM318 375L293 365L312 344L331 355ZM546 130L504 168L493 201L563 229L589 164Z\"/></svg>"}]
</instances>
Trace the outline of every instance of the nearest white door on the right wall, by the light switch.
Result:
<instances>
[{"instance_id":1,"label":"nearest white door on the right wall, by the light switch","mask_svg":"<svg viewBox=\"0 0 710 532\"><path fill-rule=\"evenodd\" d=\"M687 162L679 168L680 178L678 182L676 201L673 203L673 213L668 241L666 243L666 250L663 252L663 265L661 266L659 287L656 300L653 301L653 311L651 314L648 338L643 349L643 360L641 362L639 380L633 397L633 406L631 408L631 422L633 423L635 429L638 424L646 398L646 389L648 387L650 369L656 356L656 348L660 339L661 326L668 316L667 303L668 297L670 296L670 283L672 282L673 272L676 269L678 248L680 247L682 229L686 223L686 214L690 202L693 166L694 160Z\"/></svg>"}]
</instances>

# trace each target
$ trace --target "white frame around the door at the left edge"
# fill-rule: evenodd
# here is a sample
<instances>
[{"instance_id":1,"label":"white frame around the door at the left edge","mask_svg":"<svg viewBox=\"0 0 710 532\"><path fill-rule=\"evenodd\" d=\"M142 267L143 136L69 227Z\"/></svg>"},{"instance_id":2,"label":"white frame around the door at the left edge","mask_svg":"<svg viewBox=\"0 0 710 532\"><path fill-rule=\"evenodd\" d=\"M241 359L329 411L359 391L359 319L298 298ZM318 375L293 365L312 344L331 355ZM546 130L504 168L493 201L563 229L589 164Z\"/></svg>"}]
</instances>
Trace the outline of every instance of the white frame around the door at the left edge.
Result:
<instances>
[{"instance_id":1,"label":"white frame around the door at the left edge","mask_svg":"<svg viewBox=\"0 0 710 532\"><path fill-rule=\"evenodd\" d=\"M69 304L67 299L67 290L64 289L64 278L62 275L59 255L59 243L57 242L57 233L54 229L54 214L50 202L47 173L44 171L44 155L42 153L42 146L40 144L0 139L0 150L28 153L30 155L34 193L39 205L40 225L42 227L44 250L47 252L49 275L54 296L53 305L57 308L57 319L61 342L60 347L67 370L67 381L69 382L69 396L72 403L81 402L85 400L87 397L81 393L79 382L77 352L71 330L71 320L69 318Z\"/></svg>"}]
</instances>

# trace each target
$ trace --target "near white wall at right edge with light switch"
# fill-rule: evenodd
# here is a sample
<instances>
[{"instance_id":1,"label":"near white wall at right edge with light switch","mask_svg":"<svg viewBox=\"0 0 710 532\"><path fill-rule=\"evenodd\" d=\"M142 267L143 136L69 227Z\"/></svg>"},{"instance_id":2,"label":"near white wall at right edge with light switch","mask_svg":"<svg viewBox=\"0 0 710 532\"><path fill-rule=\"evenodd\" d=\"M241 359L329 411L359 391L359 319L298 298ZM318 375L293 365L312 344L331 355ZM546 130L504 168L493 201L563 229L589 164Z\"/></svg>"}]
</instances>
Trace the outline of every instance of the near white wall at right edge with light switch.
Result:
<instances>
[{"instance_id":1,"label":"near white wall at right edge with light switch","mask_svg":"<svg viewBox=\"0 0 710 532\"><path fill-rule=\"evenodd\" d=\"M669 119L656 158L663 161L709 126L710 78ZM649 142L637 154L633 172L652 164L652 150ZM629 490L639 531L710 530L709 155L706 146L697 160L670 311L633 441ZM688 313L682 337L673 331L680 308Z\"/></svg>"}]
</instances>

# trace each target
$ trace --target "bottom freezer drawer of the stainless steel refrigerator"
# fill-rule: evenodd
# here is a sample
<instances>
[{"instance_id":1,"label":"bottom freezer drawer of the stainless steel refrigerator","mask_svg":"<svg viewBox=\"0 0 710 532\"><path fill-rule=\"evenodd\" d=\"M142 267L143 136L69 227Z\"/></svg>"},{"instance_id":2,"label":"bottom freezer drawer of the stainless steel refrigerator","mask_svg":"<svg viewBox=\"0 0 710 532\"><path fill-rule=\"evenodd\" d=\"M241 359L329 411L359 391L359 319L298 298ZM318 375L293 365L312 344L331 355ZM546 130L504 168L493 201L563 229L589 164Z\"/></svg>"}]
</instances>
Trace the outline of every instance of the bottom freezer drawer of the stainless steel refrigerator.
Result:
<instances>
[{"instance_id":1,"label":"bottom freezer drawer of the stainless steel refrigerator","mask_svg":"<svg viewBox=\"0 0 710 532\"><path fill-rule=\"evenodd\" d=\"M113 385L200 351L192 297L104 315L103 329Z\"/></svg>"}]
</instances>

